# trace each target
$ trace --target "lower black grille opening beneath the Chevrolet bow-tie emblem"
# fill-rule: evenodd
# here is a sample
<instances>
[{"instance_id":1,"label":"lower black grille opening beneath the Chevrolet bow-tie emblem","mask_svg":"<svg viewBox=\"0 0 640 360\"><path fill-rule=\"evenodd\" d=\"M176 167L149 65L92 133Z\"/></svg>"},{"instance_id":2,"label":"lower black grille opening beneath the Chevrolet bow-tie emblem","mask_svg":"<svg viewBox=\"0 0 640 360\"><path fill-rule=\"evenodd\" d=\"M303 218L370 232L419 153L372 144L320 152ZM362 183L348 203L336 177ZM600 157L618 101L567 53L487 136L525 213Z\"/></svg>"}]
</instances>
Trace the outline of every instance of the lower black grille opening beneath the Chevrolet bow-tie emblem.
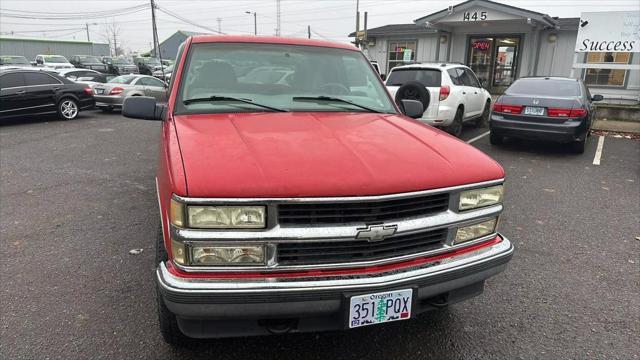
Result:
<instances>
[{"instance_id":1,"label":"lower black grille opening beneath the Chevrolet bow-tie emblem","mask_svg":"<svg viewBox=\"0 0 640 360\"><path fill-rule=\"evenodd\" d=\"M378 242L366 240L281 243L279 265L317 265L371 261L434 250L447 238L447 229L396 235Z\"/></svg>"}]
</instances>

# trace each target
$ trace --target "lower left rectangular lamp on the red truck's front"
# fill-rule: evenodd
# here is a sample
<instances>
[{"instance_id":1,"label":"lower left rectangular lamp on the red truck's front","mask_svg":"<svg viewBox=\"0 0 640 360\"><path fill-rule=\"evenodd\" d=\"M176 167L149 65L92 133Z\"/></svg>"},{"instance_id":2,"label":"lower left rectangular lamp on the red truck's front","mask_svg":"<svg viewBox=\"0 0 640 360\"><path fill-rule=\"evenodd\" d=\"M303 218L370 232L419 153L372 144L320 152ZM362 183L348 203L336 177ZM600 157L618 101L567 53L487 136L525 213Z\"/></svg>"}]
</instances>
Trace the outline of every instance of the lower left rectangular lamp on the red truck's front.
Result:
<instances>
[{"instance_id":1,"label":"lower left rectangular lamp on the red truck's front","mask_svg":"<svg viewBox=\"0 0 640 360\"><path fill-rule=\"evenodd\" d=\"M264 245L193 245L191 265L261 265Z\"/></svg>"}]
</instances>

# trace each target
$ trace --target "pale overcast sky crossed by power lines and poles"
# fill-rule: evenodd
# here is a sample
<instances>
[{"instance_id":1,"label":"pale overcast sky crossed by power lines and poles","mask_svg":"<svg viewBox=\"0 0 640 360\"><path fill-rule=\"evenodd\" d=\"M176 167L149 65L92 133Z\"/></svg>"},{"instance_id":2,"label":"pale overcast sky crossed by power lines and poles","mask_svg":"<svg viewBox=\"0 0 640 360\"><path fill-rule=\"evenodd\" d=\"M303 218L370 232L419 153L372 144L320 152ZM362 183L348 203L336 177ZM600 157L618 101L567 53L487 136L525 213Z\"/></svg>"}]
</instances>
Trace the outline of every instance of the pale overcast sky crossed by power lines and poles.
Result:
<instances>
[{"instance_id":1,"label":"pale overcast sky crossed by power lines and poles","mask_svg":"<svg viewBox=\"0 0 640 360\"><path fill-rule=\"evenodd\" d=\"M360 11L369 12L369 28L410 23L414 19L442 10L462 1L442 0L360 0ZM640 11L638 0L504 0L501 3L517 6L559 17L579 17L583 11ZM0 7L25 12L83 13L115 10L148 4L148 0L0 0ZM258 34L273 35L276 28L276 0L157 0L157 5L191 21L211 29L218 29L221 19L222 32L252 34L253 16L257 13ZM306 36L311 25L312 37L334 41L349 41L347 35L355 30L356 0L281 0L281 34ZM152 42L151 12L122 15L115 18L86 18L73 16L61 20L33 20L9 18L0 12L0 32L6 36L51 37L57 39L86 40L85 22L89 22L92 41L106 42L104 22L113 21L120 28L118 42L130 50L146 51ZM157 12L160 40L176 30L208 32L193 24L187 24L160 11Z\"/></svg>"}]
</instances>

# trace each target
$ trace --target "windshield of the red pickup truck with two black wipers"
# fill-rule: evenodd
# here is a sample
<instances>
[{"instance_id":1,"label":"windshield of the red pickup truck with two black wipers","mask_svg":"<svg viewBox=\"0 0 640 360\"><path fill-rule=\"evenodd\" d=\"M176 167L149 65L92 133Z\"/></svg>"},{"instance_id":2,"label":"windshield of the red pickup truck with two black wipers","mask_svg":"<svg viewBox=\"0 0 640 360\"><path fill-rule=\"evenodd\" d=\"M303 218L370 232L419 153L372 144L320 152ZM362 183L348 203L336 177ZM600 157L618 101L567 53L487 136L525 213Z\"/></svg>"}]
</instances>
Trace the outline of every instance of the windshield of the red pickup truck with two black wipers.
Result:
<instances>
[{"instance_id":1,"label":"windshield of the red pickup truck with two black wipers","mask_svg":"<svg viewBox=\"0 0 640 360\"><path fill-rule=\"evenodd\" d=\"M176 113L255 112L269 111L268 107L396 113L378 75L362 53L353 50L194 44L185 66ZM212 97L215 101L206 101Z\"/></svg>"}]
</instances>

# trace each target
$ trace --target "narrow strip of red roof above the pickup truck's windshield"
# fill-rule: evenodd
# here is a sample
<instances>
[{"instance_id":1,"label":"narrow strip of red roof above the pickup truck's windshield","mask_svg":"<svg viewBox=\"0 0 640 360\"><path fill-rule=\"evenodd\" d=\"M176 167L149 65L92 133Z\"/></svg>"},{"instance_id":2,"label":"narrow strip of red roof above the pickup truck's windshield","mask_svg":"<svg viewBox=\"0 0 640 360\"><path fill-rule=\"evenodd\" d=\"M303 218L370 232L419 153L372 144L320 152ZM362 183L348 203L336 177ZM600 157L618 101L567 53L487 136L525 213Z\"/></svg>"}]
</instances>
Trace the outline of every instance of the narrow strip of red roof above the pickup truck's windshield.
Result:
<instances>
[{"instance_id":1,"label":"narrow strip of red roof above the pickup truck's windshield","mask_svg":"<svg viewBox=\"0 0 640 360\"><path fill-rule=\"evenodd\" d=\"M260 43L260 44L283 44L283 45L304 45L330 47L336 49L346 49L359 51L355 46L345 43L337 43L324 40L312 40L301 38L286 38L276 36L247 36L247 35L195 35L192 37L193 43Z\"/></svg>"}]
</instances>

